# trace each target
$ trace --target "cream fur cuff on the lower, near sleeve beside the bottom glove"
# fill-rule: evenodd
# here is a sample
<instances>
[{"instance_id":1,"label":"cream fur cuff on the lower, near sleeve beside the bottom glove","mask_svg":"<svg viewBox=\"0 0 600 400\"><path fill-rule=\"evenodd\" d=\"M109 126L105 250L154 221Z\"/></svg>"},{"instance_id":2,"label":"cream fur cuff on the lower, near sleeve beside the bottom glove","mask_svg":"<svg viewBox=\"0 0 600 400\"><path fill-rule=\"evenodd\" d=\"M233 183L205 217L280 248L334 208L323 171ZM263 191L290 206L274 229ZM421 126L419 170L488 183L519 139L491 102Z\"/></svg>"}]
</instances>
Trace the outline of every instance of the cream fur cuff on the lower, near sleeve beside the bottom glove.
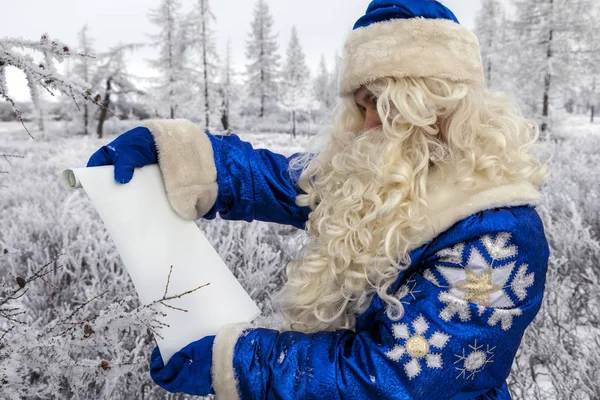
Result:
<instances>
[{"instance_id":1,"label":"cream fur cuff on the lower, near sleeve beside the bottom glove","mask_svg":"<svg viewBox=\"0 0 600 400\"><path fill-rule=\"evenodd\" d=\"M229 324L221 328L215 336L211 375L218 400L240 399L233 368L233 351L244 330L251 328L248 323Z\"/></svg>"}]
</instances>

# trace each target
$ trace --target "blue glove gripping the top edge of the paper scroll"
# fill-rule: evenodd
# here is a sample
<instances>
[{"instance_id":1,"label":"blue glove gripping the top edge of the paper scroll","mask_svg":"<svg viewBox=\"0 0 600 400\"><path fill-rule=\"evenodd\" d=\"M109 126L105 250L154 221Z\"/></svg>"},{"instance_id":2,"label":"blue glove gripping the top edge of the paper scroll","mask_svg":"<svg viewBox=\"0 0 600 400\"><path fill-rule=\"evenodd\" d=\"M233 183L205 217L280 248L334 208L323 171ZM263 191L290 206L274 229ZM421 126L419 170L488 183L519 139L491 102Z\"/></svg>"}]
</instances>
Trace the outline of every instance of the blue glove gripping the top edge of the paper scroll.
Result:
<instances>
[{"instance_id":1,"label":"blue glove gripping the top edge of the paper scroll","mask_svg":"<svg viewBox=\"0 0 600 400\"><path fill-rule=\"evenodd\" d=\"M133 171L148 164L158 162L156 143L148 130L139 126L102 146L90 157L87 166L115 166L115 180L127 183L133 177Z\"/></svg>"}]
</instances>

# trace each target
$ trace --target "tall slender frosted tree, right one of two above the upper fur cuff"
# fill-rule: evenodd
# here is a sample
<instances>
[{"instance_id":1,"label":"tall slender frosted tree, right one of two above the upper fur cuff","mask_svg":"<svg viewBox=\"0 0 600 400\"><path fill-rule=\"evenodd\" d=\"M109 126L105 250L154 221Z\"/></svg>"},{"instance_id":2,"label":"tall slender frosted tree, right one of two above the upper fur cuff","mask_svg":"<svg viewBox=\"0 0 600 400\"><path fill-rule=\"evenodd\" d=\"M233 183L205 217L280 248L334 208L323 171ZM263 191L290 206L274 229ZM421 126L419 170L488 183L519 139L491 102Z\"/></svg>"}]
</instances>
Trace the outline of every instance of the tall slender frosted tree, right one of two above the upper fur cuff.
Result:
<instances>
[{"instance_id":1,"label":"tall slender frosted tree, right one of two above the upper fur cuff","mask_svg":"<svg viewBox=\"0 0 600 400\"><path fill-rule=\"evenodd\" d=\"M196 82L199 83L199 104L197 109L204 117L204 126L210 128L211 113L217 110L217 77L219 54L215 44L213 24L216 17L213 14L209 0L196 0L194 10L190 14L188 26L191 27L191 45L195 49Z\"/></svg>"}]
</instances>

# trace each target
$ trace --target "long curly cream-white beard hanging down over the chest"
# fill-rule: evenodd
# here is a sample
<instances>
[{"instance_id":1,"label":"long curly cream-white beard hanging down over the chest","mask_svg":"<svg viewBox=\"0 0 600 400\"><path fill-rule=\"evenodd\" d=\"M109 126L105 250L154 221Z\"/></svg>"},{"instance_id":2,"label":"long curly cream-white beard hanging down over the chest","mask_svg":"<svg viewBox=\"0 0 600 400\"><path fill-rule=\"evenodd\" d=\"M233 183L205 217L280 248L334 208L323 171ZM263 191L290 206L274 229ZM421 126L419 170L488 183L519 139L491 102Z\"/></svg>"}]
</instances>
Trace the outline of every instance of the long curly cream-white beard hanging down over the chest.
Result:
<instances>
[{"instance_id":1,"label":"long curly cream-white beard hanging down over the chest","mask_svg":"<svg viewBox=\"0 0 600 400\"><path fill-rule=\"evenodd\" d=\"M397 147L374 129L333 137L317 157L323 168L307 192L318 199L309 217L308 242L303 257L288 265L288 282L278 296L293 329L352 329L355 313L375 291L366 277L381 278L376 267L389 276L397 271L382 247L403 201L394 190Z\"/></svg>"}]
</instances>

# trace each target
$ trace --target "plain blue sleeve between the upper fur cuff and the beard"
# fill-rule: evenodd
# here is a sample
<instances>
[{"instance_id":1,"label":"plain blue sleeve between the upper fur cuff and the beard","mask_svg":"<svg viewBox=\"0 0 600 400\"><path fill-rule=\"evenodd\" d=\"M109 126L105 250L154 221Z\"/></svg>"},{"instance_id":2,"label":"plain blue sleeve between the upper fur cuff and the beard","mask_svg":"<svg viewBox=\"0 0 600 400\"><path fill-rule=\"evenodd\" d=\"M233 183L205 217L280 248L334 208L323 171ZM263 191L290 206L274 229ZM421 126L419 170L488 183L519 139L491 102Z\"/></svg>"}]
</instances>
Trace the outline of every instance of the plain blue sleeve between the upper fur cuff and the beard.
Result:
<instances>
[{"instance_id":1,"label":"plain blue sleeve between the upper fur cuff and the beard","mask_svg":"<svg viewBox=\"0 0 600 400\"><path fill-rule=\"evenodd\" d=\"M237 135L212 135L219 192L215 205L203 218L214 219L218 212L225 220L276 222L304 229L309 207L300 207L295 198L299 173L288 173L290 157L266 149L253 149Z\"/></svg>"}]
</instances>

